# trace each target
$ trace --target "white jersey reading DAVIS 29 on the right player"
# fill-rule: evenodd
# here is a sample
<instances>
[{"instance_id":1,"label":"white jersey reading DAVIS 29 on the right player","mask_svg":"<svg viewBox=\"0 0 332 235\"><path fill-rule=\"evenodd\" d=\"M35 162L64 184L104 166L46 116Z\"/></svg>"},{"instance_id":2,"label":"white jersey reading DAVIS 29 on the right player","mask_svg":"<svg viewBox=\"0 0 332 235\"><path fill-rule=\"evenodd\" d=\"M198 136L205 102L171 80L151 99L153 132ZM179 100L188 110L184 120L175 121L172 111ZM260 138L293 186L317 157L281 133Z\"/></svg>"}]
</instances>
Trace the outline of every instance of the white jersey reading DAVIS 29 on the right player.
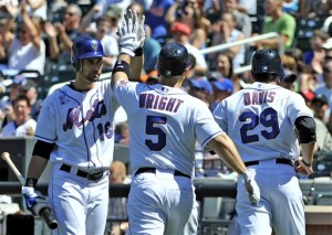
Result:
<instances>
[{"instance_id":1,"label":"white jersey reading DAVIS 29 on the right player","mask_svg":"<svg viewBox=\"0 0 332 235\"><path fill-rule=\"evenodd\" d=\"M214 116L246 162L298 158L294 122L299 116L312 117L312 111L297 93L277 85L253 83L224 99Z\"/></svg>"}]
</instances>

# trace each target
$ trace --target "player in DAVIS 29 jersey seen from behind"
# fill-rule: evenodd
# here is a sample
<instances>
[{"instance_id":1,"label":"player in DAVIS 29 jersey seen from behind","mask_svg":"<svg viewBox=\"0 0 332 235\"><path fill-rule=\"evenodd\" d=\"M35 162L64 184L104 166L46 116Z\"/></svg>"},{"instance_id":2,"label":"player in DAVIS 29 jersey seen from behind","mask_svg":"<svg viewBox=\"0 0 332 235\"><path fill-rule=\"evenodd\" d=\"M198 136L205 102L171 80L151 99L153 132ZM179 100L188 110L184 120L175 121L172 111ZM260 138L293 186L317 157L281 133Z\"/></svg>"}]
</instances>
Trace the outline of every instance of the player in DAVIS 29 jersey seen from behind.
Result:
<instances>
[{"instance_id":1,"label":"player in DAVIS 29 jersey seen from behind","mask_svg":"<svg viewBox=\"0 0 332 235\"><path fill-rule=\"evenodd\" d=\"M267 235L273 228L277 235L304 235L304 205L295 170L312 173L312 111L299 94L277 85L283 77L277 52L257 51L251 64L256 82L224 99L214 110L215 119L234 140L261 191L258 206L251 206L243 185L238 184L240 234Z\"/></svg>"}]
</instances>

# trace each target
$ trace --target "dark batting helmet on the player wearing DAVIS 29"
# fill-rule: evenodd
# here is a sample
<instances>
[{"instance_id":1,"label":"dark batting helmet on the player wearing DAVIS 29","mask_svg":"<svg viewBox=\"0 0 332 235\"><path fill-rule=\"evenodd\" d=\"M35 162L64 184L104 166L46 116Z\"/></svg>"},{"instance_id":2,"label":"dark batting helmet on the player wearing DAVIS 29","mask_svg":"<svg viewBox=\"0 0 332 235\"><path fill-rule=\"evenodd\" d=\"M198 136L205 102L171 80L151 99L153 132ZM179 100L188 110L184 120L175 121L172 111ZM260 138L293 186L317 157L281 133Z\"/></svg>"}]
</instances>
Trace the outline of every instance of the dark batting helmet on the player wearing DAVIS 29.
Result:
<instances>
[{"instance_id":1,"label":"dark batting helmet on the player wearing DAVIS 29","mask_svg":"<svg viewBox=\"0 0 332 235\"><path fill-rule=\"evenodd\" d=\"M284 73L279 54L270 49L255 52L251 60L251 73L255 78L261 74L274 74L281 81Z\"/></svg>"}]
</instances>

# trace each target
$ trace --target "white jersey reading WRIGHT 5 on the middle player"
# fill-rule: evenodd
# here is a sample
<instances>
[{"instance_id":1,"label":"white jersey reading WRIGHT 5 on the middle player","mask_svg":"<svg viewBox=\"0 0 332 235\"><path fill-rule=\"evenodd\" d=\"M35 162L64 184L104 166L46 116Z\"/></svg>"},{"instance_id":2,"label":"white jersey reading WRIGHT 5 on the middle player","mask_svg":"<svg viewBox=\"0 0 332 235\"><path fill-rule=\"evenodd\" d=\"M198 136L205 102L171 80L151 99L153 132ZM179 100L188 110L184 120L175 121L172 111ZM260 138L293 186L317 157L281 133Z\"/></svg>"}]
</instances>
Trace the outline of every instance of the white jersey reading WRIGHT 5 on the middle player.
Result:
<instances>
[{"instance_id":1,"label":"white jersey reading WRIGHT 5 on the middle player","mask_svg":"<svg viewBox=\"0 0 332 235\"><path fill-rule=\"evenodd\" d=\"M201 100L179 88L120 81L114 95L128 116L131 167L193 174L196 140L204 147L221 133Z\"/></svg>"}]
</instances>

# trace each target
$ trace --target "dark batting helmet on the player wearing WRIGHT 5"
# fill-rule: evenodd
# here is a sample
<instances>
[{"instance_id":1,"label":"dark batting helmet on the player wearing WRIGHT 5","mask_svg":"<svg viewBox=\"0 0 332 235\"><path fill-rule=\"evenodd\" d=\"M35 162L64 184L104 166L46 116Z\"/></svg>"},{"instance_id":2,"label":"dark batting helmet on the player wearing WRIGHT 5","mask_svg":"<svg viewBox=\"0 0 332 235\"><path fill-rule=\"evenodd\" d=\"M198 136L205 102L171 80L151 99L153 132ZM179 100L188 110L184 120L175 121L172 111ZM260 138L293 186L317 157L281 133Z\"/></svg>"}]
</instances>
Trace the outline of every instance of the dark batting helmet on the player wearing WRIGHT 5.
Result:
<instances>
[{"instance_id":1,"label":"dark batting helmet on the player wearing WRIGHT 5","mask_svg":"<svg viewBox=\"0 0 332 235\"><path fill-rule=\"evenodd\" d=\"M164 76L178 76L190 65L187 49L178 43L163 46L158 55L157 71Z\"/></svg>"}]
</instances>

